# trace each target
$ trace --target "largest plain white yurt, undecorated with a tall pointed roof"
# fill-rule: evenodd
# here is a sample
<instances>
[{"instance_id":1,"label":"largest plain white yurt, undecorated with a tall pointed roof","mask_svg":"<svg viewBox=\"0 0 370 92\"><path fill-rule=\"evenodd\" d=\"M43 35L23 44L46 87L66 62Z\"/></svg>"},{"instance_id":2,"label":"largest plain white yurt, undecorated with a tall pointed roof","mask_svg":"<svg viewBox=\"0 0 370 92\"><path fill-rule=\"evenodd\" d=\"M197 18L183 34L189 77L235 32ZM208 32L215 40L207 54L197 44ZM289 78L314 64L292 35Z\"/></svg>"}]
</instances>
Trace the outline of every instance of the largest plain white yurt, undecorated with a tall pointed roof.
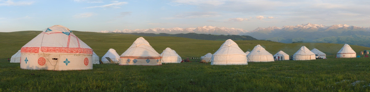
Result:
<instances>
[{"instance_id":1,"label":"largest plain white yurt, undecorated with a tall pointed roof","mask_svg":"<svg viewBox=\"0 0 370 92\"><path fill-rule=\"evenodd\" d=\"M248 65L247 55L231 39L212 55L211 65Z\"/></svg>"}]
</instances>

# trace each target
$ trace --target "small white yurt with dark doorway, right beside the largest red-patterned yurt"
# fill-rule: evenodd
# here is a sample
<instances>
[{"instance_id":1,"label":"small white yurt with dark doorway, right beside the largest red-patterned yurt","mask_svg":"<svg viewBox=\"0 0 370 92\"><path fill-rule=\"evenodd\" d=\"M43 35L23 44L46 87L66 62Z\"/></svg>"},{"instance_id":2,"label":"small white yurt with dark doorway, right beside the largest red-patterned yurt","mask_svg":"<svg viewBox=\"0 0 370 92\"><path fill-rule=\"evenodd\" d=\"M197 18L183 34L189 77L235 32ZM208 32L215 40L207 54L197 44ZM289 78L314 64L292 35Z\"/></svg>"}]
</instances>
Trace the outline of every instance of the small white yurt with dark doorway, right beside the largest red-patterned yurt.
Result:
<instances>
[{"instance_id":1,"label":"small white yurt with dark doorway, right beside the largest red-patterned yurt","mask_svg":"<svg viewBox=\"0 0 370 92\"><path fill-rule=\"evenodd\" d=\"M103 64L113 63L108 61L108 59L105 57L110 58L114 63L118 63L120 61L120 55L118 55L118 53L112 48L109 49L103 57L101 57L101 62L103 62Z\"/></svg>"}]
</instances>

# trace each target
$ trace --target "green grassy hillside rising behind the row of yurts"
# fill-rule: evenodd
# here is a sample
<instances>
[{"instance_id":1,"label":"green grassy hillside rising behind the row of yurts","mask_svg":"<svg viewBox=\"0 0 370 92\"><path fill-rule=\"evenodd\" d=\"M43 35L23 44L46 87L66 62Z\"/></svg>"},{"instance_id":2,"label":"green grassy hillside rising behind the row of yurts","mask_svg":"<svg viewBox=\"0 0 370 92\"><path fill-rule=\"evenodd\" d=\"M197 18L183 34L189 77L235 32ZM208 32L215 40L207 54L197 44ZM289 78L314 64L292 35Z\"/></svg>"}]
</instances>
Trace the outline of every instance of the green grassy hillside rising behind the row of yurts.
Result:
<instances>
[{"instance_id":1,"label":"green grassy hillside rising behind the row of yurts","mask_svg":"<svg viewBox=\"0 0 370 92\"><path fill-rule=\"evenodd\" d=\"M89 45L95 53L102 57L110 48L113 48L121 55L127 50L132 42L141 36L130 34L115 34L115 33L95 33L73 31L78 38ZM0 33L0 48L3 48L3 53L0 54L1 59L10 58L20 48L30 41L41 31L18 31L10 33ZM144 37L150 45L159 54L169 47L175 50L182 58L186 57L201 57L207 53L214 53L218 50L221 44L225 41L212 40L195 40L182 37ZM235 41L244 51L251 51L256 45L262 45L271 54L282 50L289 55L293 55L300 47L306 46L309 49L317 48L327 55L335 55L344 44L328 44L328 43L295 43L284 44L279 42L264 41L264 40L248 40ZM363 50L370 50L369 47L350 45L354 51L359 53ZM329 56L331 57L331 56ZM333 56L335 57L335 56Z\"/></svg>"}]
</instances>

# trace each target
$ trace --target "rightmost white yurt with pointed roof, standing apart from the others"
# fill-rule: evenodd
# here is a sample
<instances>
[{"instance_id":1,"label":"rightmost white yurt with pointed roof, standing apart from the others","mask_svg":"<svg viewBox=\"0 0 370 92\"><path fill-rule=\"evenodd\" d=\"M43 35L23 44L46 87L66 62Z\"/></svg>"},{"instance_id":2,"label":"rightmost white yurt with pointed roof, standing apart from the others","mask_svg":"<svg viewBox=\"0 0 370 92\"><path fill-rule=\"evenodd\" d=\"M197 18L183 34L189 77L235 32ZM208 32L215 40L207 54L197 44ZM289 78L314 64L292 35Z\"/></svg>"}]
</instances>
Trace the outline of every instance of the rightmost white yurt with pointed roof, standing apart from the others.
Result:
<instances>
[{"instance_id":1,"label":"rightmost white yurt with pointed roof, standing apart from the others","mask_svg":"<svg viewBox=\"0 0 370 92\"><path fill-rule=\"evenodd\" d=\"M337 58L356 58L356 52L348 44L344 44L337 52Z\"/></svg>"}]
</instances>

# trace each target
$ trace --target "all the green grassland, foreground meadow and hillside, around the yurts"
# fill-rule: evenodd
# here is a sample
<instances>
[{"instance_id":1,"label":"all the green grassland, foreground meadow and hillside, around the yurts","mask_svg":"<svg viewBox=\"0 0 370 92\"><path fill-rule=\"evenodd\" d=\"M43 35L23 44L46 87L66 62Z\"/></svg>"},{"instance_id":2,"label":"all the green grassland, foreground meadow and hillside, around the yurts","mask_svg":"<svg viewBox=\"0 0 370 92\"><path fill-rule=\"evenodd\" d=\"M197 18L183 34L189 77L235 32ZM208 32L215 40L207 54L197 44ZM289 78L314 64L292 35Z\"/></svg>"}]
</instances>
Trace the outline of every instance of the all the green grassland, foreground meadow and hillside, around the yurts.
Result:
<instances>
[{"instance_id":1,"label":"all the green grassland, foreground meadow and hillside, around the yurts","mask_svg":"<svg viewBox=\"0 0 370 92\"><path fill-rule=\"evenodd\" d=\"M41 31L0 33L0 91L370 91L370 58L333 58L343 44L235 41L243 51L257 44L271 54L294 54L305 45L329 59L248 62L248 65L209 65L196 62L159 66L95 64L94 69L48 71L20 69L7 58ZM74 31L100 57L109 48L122 54L137 35ZM224 41L179 37L144 37L161 53L166 47L182 58L214 53ZM351 45L359 53L368 47ZM198 60L199 59L193 59ZM351 83L360 81L357 84Z\"/></svg>"}]
</instances>

